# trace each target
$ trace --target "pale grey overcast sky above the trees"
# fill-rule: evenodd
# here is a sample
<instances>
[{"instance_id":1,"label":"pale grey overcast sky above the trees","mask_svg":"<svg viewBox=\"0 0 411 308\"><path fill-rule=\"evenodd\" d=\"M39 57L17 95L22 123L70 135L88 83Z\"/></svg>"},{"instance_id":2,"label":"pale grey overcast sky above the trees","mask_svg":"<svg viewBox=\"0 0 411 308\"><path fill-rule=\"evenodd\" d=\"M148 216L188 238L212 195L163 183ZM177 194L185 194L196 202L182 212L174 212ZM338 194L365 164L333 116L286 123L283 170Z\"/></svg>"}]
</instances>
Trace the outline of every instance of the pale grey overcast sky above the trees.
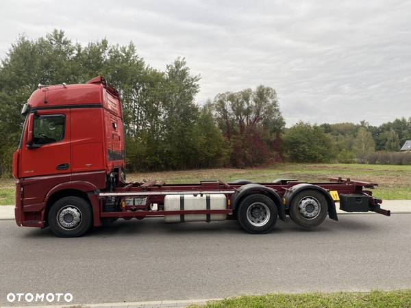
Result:
<instances>
[{"instance_id":1,"label":"pale grey overcast sky above the trees","mask_svg":"<svg viewBox=\"0 0 411 308\"><path fill-rule=\"evenodd\" d=\"M0 2L0 57L53 28L127 44L164 70L178 56L219 92L275 88L287 126L411 116L411 1Z\"/></svg>"}]
</instances>

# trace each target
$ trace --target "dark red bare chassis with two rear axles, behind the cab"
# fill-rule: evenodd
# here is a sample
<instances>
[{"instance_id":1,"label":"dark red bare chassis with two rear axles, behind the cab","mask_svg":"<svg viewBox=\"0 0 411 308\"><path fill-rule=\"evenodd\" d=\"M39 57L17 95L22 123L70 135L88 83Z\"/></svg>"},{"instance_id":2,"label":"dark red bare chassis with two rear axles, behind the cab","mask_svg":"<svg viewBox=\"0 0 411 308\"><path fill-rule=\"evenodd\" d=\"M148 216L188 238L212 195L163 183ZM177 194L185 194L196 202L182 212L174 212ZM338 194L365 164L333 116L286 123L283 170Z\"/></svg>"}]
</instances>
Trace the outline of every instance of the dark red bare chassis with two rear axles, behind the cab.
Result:
<instances>
[{"instance_id":1,"label":"dark red bare chassis with two rear axles, behind the cab","mask_svg":"<svg viewBox=\"0 0 411 308\"><path fill-rule=\"evenodd\" d=\"M374 198L371 190L377 183L351 181L351 179L331 178L328 182L306 183L295 179L277 179L271 183L251 183L239 180L232 183L223 181L200 181L198 184L166 184L164 181L147 181L142 183L125 183L119 181L111 191L96 192L99 196L99 217L104 222L112 222L117 218L150 218L169 215L212 215L226 214L227 219L238 219L242 227L249 233L266 233L273 229L276 219L266 227L260 228L252 224L245 207L247 197L253 196L256 202L275 205L275 216L285 220L286 216L305 228L316 227L323 222L325 216L310 215L310 209L316 207L326 211L329 218L338 220L336 202L340 209L348 212L374 211L390 216L390 211L382 209L382 200ZM366 189L366 190L364 190ZM224 194L227 200L225 209L164 209L164 198L170 195L207 196ZM322 198L321 198L322 197ZM137 201L137 202L136 202ZM306 202L301 205L301 202ZM318 204L316 204L318 203ZM305 207L304 207L305 205ZM271 209L270 209L271 210ZM243 213L244 212L244 213ZM312 217L311 217L312 216ZM184 220L182 220L184 221ZM247 224L247 222L249 222ZM251 223L250 223L251 222Z\"/></svg>"}]
</instances>

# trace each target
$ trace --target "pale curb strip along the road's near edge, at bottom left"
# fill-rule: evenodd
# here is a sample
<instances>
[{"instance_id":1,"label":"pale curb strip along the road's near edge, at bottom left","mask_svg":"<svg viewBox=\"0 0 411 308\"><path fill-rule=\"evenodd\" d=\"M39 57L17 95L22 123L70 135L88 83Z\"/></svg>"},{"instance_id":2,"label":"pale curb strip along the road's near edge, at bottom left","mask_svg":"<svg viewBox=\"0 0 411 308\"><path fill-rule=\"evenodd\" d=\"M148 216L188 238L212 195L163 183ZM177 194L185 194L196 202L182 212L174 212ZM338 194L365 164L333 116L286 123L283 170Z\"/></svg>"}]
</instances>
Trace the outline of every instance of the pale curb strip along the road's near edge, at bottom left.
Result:
<instances>
[{"instance_id":1,"label":"pale curb strip along the road's near edge, at bottom left","mask_svg":"<svg viewBox=\"0 0 411 308\"><path fill-rule=\"evenodd\" d=\"M69 304L66 305L43 305L43 306L21 306L31 308L72 308L72 307L129 307L129 308L180 308L189 305L205 305L210 301L223 300L223 298L192 299L192 300L151 300L147 302L128 302L128 303L101 303L101 304ZM1 306L1 308L7 306ZM18 307L18 306L13 306Z\"/></svg>"}]
</instances>

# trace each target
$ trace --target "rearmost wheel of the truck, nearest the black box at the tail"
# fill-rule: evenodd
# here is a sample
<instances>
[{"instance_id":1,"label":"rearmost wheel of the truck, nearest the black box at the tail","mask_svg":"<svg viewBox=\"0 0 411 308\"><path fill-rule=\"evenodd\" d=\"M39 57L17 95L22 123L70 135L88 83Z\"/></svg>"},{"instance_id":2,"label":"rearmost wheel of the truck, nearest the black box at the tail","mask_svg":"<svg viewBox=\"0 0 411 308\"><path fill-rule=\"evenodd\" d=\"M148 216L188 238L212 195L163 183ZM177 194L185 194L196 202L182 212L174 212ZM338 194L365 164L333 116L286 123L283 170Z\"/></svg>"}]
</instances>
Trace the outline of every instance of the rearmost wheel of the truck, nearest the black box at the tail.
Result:
<instances>
[{"instance_id":1,"label":"rearmost wheel of the truck, nearest the black box at the tail","mask_svg":"<svg viewBox=\"0 0 411 308\"><path fill-rule=\"evenodd\" d=\"M327 217L327 212L327 199L316 190L298 192L290 204L290 218L306 229L321 224Z\"/></svg>"}]
</instances>

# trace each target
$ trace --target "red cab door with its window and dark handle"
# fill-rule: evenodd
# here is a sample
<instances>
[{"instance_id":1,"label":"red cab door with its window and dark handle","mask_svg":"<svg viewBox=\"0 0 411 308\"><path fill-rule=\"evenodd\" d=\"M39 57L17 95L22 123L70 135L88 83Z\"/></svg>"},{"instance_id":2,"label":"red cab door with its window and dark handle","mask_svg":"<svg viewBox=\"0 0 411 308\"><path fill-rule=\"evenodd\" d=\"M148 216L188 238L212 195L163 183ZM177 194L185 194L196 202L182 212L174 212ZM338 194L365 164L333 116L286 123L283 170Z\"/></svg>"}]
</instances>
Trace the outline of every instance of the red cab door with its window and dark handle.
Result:
<instances>
[{"instance_id":1,"label":"red cab door with its window and dark handle","mask_svg":"<svg viewBox=\"0 0 411 308\"><path fill-rule=\"evenodd\" d=\"M32 142L27 144L26 136L22 146L21 177L71 173L70 110L42 110L32 121Z\"/></svg>"}]
</instances>

